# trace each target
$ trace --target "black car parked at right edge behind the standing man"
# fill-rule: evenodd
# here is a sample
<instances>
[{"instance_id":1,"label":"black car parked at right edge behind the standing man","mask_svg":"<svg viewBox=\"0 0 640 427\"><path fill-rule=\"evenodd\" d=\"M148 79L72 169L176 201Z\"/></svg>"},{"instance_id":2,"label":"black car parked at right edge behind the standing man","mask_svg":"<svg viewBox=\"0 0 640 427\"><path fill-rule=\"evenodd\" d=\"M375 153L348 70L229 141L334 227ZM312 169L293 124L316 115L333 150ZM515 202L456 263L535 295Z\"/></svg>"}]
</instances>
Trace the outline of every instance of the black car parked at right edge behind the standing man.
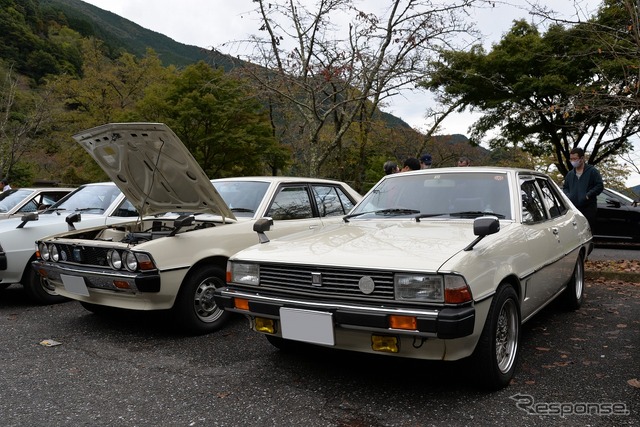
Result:
<instances>
[{"instance_id":1,"label":"black car parked at right edge behind the standing man","mask_svg":"<svg viewBox=\"0 0 640 427\"><path fill-rule=\"evenodd\" d=\"M638 202L610 188L598 195L598 216L593 238L602 241L640 242Z\"/></svg>"}]
</instances>

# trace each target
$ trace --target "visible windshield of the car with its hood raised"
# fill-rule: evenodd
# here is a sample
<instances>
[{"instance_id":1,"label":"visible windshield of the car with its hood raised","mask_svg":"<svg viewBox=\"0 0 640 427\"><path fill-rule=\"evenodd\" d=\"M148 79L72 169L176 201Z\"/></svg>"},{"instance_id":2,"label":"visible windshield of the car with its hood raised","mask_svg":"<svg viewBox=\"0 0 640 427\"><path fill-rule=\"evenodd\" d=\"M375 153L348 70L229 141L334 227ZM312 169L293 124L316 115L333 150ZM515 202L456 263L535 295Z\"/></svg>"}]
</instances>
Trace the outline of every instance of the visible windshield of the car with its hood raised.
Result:
<instances>
[{"instance_id":1,"label":"visible windshield of the car with its hood raised","mask_svg":"<svg viewBox=\"0 0 640 427\"><path fill-rule=\"evenodd\" d=\"M212 181L213 186L237 217L251 218L264 198L268 182Z\"/></svg>"}]
</instances>

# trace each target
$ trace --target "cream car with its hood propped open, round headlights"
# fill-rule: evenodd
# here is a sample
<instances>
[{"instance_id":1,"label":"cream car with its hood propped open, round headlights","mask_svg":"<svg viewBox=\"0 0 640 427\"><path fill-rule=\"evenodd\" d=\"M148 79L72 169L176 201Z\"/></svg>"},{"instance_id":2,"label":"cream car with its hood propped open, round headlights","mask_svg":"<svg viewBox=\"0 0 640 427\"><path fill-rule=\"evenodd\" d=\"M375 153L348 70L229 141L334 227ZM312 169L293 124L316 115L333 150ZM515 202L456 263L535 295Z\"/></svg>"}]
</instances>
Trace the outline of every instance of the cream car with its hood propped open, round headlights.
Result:
<instances>
[{"instance_id":1,"label":"cream car with its hood propped open, round headlights","mask_svg":"<svg viewBox=\"0 0 640 427\"><path fill-rule=\"evenodd\" d=\"M258 242L256 219L271 217L283 236L339 222L361 199L325 179L209 181L163 124L110 124L74 138L154 217L41 239L35 269L90 311L171 309L187 333L214 331L229 317L213 291L225 285L227 259Z\"/></svg>"}]
</instances>

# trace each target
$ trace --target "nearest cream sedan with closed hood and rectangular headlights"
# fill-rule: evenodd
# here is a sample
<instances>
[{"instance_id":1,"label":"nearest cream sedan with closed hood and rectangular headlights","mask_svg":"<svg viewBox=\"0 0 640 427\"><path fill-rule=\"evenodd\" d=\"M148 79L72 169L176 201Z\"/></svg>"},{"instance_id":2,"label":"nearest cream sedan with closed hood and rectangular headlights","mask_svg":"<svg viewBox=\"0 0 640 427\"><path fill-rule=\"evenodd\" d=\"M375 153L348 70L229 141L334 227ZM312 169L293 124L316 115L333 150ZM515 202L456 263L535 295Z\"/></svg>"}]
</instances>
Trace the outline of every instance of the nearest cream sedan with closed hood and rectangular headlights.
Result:
<instances>
[{"instance_id":1,"label":"nearest cream sedan with closed hood and rectangular headlights","mask_svg":"<svg viewBox=\"0 0 640 427\"><path fill-rule=\"evenodd\" d=\"M520 325L583 299L592 236L546 175L468 167L388 175L342 224L269 241L228 263L218 306L279 348L302 341L410 358L473 357L508 384Z\"/></svg>"}]
</instances>

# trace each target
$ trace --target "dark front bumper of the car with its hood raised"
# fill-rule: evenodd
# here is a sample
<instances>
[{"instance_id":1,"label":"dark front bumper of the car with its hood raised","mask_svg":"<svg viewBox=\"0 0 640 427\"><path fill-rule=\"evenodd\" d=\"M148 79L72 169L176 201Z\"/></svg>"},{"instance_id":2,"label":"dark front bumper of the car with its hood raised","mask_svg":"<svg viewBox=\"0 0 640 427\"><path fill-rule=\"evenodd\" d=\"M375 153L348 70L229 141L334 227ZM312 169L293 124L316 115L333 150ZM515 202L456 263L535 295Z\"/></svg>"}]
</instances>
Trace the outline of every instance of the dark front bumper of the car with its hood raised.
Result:
<instances>
[{"instance_id":1,"label":"dark front bumper of the car with its hood raised","mask_svg":"<svg viewBox=\"0 0 640 427\"><path fill-rule=\"evenodd\" d=\"M56 287L64 287L62 275L67 275L81 277L89 289L104 289L127 293L160 292L160 275L157 271L132 273L41 260L33 261L31 265ZM124 284L126 286L123 286Z\"/></svg>"}]
</instances>

